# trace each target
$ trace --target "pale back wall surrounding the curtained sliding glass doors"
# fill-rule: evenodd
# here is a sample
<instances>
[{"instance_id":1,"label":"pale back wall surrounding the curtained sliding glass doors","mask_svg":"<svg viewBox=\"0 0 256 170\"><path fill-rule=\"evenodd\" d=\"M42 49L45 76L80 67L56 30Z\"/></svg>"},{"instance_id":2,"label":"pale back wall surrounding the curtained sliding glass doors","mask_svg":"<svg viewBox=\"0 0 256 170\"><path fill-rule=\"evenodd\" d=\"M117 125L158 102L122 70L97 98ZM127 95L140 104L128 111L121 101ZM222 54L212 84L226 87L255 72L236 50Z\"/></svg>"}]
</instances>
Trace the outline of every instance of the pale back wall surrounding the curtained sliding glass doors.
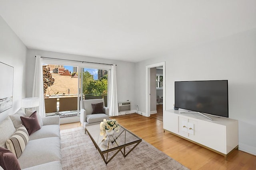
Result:
<instances>
[{"instance_id":1,"label":"pale back wall surrounding the curtained sliding glass doors","mask_svg":"<svg viewBox=\"0 0 256 170\"><path fill-rule=\"evenodd\" d=\"M108 60L108 59L100 59L95 57L86 57L80 55L72 55L72 54L64 54L64 53L56 53L50 51L42 51L35 49L28 49L28 63L27 63L27 93L26 96L32 96L32 88L33 88L33 79L34 79L34 69L36 62L36 55L41 55L42 57L51 57L58 59L69 59L69 60L77 60L77 61L88 61L88 62L96 62L96 63L107 63L107 64L117 64L116 66L116 76L117 76L117 89L118 89L118 101L126 101L130 100L131 109L135 109L135 63L132 62L124 62L124 61L116 61L116 60Z\"/></svg>"}]
</instances>

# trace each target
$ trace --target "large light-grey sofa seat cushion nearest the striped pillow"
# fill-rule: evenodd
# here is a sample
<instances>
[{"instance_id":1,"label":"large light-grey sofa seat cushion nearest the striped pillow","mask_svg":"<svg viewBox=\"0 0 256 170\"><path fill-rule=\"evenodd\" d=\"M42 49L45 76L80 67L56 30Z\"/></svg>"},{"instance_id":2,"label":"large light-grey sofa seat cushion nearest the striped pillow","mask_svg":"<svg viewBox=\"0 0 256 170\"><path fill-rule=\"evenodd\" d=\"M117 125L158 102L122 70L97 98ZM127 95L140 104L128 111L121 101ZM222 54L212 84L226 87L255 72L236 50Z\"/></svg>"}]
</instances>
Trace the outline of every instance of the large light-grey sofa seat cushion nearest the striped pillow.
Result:
<instances>
[{"instance_id":1,"label":"large light-grey sofa seat cushion nearest the striped pillow","mask_svg":"<svg viewBox=\"0 0 256 170\"><path fill-rule=\"evenodd\" d=\"M52 161L61 160L60 138L48 137L29 141L26 149L18 158L20 168L28 168Z\"/></svg>"}]
</instances>

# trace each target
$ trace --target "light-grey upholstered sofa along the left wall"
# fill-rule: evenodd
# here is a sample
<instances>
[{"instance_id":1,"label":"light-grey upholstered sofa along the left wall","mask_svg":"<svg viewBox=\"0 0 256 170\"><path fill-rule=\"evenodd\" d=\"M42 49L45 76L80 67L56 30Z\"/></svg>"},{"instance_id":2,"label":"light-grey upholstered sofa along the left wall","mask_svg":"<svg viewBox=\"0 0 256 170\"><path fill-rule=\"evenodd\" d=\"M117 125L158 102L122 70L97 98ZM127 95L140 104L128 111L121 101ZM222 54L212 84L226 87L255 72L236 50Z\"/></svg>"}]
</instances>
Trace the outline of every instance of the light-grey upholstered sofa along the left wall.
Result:
<instances>
[{"instance_id":1,"label":"light-grey upholstered sofa along the left wall","mask_svg":"<svg viewBox=\"0 0 256 170\"><path fill-rule=\"evenodd\" d=\"M20 109L0 123L0 147L6 148L5 141L15 133L15 127L21 125L20 116L24 114ZM61 170L60 117L42 117L38 118L38 121L41 129L29 136L28 144L18 158L20 168L22 170Z\"/></svg>"}]
</instances>

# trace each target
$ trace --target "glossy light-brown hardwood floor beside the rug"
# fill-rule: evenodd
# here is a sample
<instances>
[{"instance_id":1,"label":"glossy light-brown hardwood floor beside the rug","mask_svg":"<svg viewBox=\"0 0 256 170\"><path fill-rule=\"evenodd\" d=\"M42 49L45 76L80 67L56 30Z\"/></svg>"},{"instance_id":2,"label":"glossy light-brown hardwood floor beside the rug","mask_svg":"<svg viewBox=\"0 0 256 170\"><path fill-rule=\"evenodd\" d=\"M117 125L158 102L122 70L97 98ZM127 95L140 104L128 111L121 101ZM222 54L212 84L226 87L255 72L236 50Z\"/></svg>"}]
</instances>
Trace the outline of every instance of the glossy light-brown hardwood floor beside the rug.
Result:
<instances>
[{"instance_id":1,"label":"glossy light-brown hardwood floor beside the rug","mask_svg":"<svg viewBox=\"0 0 256 170\"><path fill-rule=\"evenodd\" d=\"M191 170L256 170L256 156L235 150L228 156L212 152L171 133L163 133L163 122L136 113L111 117L157 149ZM78 127L80 123L60 125L61 129ZM214 141L213 141L214 142Z\"/></svg>"}]
</instances>

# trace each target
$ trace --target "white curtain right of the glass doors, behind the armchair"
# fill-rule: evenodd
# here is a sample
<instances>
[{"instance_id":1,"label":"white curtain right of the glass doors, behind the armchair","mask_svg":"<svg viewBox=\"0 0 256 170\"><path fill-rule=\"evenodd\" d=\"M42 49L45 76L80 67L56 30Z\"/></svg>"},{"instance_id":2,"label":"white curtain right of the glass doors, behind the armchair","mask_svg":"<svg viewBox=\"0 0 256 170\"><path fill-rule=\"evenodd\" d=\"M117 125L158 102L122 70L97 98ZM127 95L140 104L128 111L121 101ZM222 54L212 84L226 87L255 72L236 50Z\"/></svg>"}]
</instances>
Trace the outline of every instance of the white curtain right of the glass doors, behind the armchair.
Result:
<instances>
[{"instance_id":1,"label":"white curtain right of the glass doors, behind the armchair","mask_svg":"<svg viewBox=\"0 0 256 170\"><path fill-rule=\"evenodd\" d=\"M110 70L110 90L109 90L109 115L118 115L117 87L116 87L116 64L111 66Z\"/></svg>"}]
</instances>

